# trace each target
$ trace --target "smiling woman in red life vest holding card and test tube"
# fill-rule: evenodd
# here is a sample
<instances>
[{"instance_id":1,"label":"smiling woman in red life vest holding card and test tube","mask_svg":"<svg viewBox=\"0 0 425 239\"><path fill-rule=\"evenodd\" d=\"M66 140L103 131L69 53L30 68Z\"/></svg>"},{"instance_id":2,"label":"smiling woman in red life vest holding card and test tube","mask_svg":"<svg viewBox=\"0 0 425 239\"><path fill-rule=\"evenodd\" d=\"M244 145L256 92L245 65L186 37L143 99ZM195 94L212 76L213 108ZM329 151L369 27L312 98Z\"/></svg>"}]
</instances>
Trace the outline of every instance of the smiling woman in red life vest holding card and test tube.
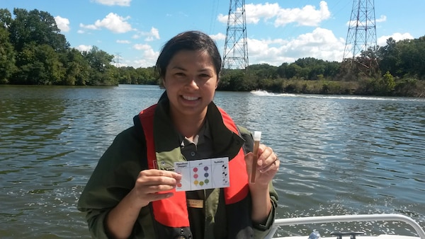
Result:
<instances>
[{"instance_id":1,"label":"smiling woman in red life vest holding card and test tube","mask_svg":"<svg viewBox=\"0 0 425 239\"><path fill-rule=\"evenodd\" d=\"M166 42L157 60L165 92L118 134L79 199L94 237L264 238L271 230L278 198L271 180L280 162L263 144L254 156L248 130L212 102L220 67L205 33L188 31ZM228 179L203 165L222 158ZM181 187L191 177L175 168L186 161L203 165L205 184ZM209 177L228 183L210 187Z\"/></svg>"}]
</instances>

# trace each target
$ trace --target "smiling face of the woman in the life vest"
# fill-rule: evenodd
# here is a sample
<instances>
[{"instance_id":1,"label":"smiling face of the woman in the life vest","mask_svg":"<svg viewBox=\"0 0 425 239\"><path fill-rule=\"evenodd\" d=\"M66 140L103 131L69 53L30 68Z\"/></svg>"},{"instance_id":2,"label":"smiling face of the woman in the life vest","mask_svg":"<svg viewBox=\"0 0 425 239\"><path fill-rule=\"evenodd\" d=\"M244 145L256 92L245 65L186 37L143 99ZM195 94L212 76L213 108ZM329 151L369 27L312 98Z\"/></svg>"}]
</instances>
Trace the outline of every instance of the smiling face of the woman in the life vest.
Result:
<instances>
[{"instance_id":1,"label":"smiling face of the woman in the life vest","mask_svg":"<svg viewBox=\"0 0 425 239\"><path fill-rule=\"evenodd\" d=\"M218 78L208 52L181 50L166 66L163 82L174 117L205 117Z\"/></svg>"}]
</instances>

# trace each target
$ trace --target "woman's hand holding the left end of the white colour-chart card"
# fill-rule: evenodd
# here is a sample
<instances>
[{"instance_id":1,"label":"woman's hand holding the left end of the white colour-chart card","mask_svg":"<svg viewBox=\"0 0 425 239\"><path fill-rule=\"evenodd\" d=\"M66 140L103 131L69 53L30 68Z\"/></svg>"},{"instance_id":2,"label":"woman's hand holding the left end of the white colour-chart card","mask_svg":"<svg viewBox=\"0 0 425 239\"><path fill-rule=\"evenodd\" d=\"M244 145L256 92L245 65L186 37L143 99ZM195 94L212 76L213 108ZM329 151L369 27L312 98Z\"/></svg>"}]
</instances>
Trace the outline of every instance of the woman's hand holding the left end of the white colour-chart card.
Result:
<instances>
[{"instance_id":1,"label":"woman's hand holding the left end of the white colour-chart card","mask_svg":"<svg viewBox=\"0 0 425 239\"><path fill-rule=\"evenodd\" d=\"M167 191L173 190L180 180L179 173L157 169L142 170L130 193L140 207L146 206L149 202L173 196L173 192Z\"/></svg>"}]
</instances>

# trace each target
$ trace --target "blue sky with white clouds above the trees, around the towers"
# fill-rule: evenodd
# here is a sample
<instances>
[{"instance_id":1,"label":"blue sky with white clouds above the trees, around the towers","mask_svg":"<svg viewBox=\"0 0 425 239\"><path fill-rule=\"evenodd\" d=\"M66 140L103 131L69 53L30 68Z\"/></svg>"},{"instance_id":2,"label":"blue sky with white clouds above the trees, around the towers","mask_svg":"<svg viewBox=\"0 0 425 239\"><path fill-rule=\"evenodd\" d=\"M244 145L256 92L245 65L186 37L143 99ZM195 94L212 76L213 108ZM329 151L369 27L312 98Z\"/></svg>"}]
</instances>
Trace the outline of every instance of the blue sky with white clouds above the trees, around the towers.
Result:
<instances>
[{"instance_id":1,"label":"blue sky with white clouds above the trees, around the towers","mask_svg":"<svg viewBox=\"0 0 425 239\"><path fill-rule=\"evenodd\" d=\"M341 62L352 0L245 0L249 64L314 57ZM224 0L0 0L0 8L47 11L71 47L96 46L119 66L154 66L164 43L201 30L223 54L229 1ZM378 45L425 35L424 0L375 1Z\"/></svg>"}]
</instances>

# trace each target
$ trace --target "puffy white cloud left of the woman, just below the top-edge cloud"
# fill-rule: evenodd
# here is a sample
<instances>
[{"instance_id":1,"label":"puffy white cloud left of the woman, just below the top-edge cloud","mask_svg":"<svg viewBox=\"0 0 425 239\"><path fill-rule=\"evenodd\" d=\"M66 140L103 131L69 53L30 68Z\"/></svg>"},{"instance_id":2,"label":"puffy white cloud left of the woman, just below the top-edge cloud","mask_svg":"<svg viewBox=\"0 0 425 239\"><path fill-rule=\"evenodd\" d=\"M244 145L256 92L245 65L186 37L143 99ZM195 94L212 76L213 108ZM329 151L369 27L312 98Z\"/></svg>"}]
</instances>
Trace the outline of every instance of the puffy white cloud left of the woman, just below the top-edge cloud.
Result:
<instances>
[{"instance_id":1,"label":"puffy white cloud left of the woman, just below the top-edge cloud","mask_svg":"<svg viewBox=\"0 0 425 239\"><path fill-rule=\"evenodd\" d=\"M106 28L111 30L113 33L127 33L130 30L133 30L130 23L127 22L129 18L130 16L124 18L115 13L109 13L102 20L96 20L94 24L84 25L80 23L79 26L89 30L100 30L101 28Z\"/></svg>"}]
</instances>

